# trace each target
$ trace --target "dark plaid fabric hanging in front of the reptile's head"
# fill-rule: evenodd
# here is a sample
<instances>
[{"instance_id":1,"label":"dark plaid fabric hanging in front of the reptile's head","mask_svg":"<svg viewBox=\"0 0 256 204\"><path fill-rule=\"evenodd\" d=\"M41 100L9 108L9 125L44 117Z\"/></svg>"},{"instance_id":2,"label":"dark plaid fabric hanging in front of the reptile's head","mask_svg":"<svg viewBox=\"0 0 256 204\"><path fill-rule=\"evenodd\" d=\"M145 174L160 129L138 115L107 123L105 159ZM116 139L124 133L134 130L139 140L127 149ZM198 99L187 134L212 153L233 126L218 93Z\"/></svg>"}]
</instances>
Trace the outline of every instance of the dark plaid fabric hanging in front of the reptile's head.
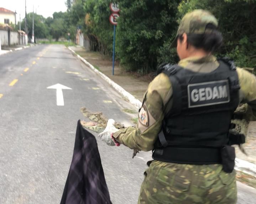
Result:
<instances>
[{"instance_id":1,"label":"dark plaid fabric hanging in front of the reptile's head","mask_svg":"<svg viewBox=\"0 0 256 204\"><path fill-rule=\"evenodd\" d=\"M80 120L61 204L111 204L96 139Z\"/></svg>"}]
</instances>

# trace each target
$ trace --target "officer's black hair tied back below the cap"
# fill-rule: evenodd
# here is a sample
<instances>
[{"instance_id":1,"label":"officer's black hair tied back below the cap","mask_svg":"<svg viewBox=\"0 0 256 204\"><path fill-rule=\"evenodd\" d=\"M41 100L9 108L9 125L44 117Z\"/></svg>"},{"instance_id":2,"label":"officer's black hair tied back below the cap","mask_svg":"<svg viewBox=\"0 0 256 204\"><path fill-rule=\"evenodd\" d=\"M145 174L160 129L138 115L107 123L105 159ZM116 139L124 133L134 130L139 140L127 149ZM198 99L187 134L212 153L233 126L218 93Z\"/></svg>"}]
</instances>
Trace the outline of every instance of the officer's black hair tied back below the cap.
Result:
<instances>
[{"instance_id":1,"label":"officer's black hair tied back below the cap","mask_svg":"<svg viewBox=\"0 0 256 204\"><path fill-rule=\"evenodd\" d=\"M209 23L205 29L210 32L205 32L204 34L187 34L187 42L195 48L202 48L207 52L213 53L222 45L223 37L221 32L213 24ZM179 35L178 39L182 41L182 35Z\"/></svg>"}]
</instances>

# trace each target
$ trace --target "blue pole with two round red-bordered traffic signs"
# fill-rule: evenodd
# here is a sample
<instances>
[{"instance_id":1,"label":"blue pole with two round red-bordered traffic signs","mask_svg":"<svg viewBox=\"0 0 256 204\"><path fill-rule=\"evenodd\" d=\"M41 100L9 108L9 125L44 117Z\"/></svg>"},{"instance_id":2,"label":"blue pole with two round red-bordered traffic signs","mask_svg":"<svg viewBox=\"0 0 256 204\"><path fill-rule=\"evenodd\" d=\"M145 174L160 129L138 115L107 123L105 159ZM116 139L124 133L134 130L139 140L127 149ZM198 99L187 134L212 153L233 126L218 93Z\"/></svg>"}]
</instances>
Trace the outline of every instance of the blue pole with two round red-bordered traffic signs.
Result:
<instances>
[{"instance_id":1,"label":"blue pole with two round red-bordered traffic signs","mask_svg":"<svg viewBox=\"0 0 256 204\"><path fill-rule=\"evenodd\" d=\"M113 68L112 68L112 75L114 75L114 67L115 67L115 40L116 40L116 25L117 21L116 19L119 18L118 12L120 11L118 4L110 3L109 5L110 10L113 12L109 16L109 21L111 24L114 25L114 38L113 38Z\"/></svg>"}]
</instances>

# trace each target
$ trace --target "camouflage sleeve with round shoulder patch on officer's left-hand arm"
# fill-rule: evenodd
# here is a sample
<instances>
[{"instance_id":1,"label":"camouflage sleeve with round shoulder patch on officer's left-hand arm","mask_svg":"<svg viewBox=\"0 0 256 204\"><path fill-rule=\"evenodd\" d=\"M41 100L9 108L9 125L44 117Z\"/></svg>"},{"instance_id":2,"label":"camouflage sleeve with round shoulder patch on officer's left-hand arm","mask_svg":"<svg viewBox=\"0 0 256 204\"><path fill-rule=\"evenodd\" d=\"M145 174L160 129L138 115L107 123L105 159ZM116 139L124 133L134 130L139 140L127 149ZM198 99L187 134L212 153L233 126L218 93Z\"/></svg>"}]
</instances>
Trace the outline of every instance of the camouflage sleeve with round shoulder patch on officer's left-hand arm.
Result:
<instances>
[{"instance_id":1,"label":"camouflage sleeve with round shoulder patch on officer's left-hand arm","mask_svg":"<svg viewBox=\"0 0 256 204\"><path fill-rule=\"evenodd\" d=\"M163 107L171 95L171 82L161 73L148 86L136 127L117 131L114 138L131 149L152 150L162 128Z\"/></svg>"}]
</instances>

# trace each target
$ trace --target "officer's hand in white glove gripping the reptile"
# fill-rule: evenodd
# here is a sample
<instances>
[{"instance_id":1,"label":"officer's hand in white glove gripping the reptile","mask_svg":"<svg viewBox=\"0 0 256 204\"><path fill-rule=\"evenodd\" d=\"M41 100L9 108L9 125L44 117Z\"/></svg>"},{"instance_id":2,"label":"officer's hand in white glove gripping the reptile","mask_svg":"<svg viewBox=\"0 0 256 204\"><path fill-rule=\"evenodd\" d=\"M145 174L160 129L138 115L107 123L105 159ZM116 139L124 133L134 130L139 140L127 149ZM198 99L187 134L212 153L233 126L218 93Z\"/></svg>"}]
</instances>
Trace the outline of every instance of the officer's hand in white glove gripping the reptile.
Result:
<instances>
[{"instance_id":1,"label":"officer's hand in white glove gripping the reptile","mask_svg":"<svg viewBox=\"0 0 256 204\"><path fill-rule=\"evenodd\" d=\"M115 121L113 119L109 119L106 128L104 129L103 132L99 133L98 136L100 137L101 140L103 140L107 145L110 146L119 146L120 143L117 142L112 134L118 129L115 128L114 126Z\"/></svg>"}]
</instances>

